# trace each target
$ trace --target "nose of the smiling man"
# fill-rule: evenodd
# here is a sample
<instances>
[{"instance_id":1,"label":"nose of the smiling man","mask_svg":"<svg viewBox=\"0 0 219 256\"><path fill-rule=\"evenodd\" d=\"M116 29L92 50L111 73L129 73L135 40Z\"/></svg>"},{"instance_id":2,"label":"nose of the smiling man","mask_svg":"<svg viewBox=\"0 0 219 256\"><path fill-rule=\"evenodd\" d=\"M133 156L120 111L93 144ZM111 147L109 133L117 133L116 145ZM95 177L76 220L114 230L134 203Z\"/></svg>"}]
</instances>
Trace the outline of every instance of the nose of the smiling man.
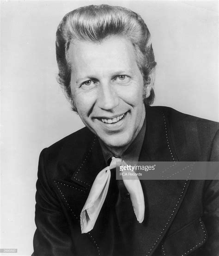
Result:
<instances>
[{"instance_id":1,"label":"nose of the smiling man","mask_svg":"<svg viewBox=\"0 0 219 256\"><path fill-rule=\"evenodd\" d=\"M112 110L119 104L119 97L113 85L102 83L98 91L98 107L103 110Z\"/></svg>"}]
</instances>

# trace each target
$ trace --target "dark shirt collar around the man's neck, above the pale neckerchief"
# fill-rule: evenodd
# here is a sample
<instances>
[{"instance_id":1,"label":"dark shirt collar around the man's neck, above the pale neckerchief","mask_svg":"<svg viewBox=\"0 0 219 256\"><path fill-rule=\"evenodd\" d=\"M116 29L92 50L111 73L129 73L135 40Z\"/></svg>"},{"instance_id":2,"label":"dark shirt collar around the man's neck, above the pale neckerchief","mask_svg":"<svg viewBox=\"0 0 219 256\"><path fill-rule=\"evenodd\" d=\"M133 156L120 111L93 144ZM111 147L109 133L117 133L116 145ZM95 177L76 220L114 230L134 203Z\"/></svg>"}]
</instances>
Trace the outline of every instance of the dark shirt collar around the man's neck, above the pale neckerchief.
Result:
<instances>
[{"instance_id":1,"label":"dark shirt collar around the man's neck, above the pale neckerchief","mask_svg":"<svg viewBox=\"0 0 219 256\"><path fill-rule=\"evenodd\" d=\"M144 123L142 125L142 128L140 129L140 132L132 142L132 144L127 148L127 150L122 154L122 156L115 156L109 148L103 143L102 140L99 139L100 145L103 151L103 157L105 159L105 162L107 165L110 164L111 158L113 156L122 158L126 163L128 162L137 162L139 160L141 147L143 145L144 137L145 137L145 131L146 131L146 118L144 120Z\"/></svg>"}]
</instances>

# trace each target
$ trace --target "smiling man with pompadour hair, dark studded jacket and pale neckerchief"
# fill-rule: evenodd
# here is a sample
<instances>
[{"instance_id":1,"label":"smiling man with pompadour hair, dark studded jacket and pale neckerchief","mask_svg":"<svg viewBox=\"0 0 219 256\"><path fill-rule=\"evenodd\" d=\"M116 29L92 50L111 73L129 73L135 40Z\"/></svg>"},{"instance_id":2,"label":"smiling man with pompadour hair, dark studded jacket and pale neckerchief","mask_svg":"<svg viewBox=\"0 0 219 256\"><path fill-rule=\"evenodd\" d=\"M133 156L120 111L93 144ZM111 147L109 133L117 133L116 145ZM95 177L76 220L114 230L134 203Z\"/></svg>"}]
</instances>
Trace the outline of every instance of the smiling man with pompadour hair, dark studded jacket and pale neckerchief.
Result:
<instances>
[{"instance_id":1,"label":"smiling man with pompadour hair, dark studded jacket and pale neckerchief","mask_svg":"<svg viewBox=\"0 0 219 256\"><path fill-rule=\"evenodd\" d=\"M136 13L85 6L56 34L86 128L41 152L34 255L218 255L218 181L117 181L116 161L217 161L218 124L150 107L156 62Z\"/></svg>"}]
</instances>

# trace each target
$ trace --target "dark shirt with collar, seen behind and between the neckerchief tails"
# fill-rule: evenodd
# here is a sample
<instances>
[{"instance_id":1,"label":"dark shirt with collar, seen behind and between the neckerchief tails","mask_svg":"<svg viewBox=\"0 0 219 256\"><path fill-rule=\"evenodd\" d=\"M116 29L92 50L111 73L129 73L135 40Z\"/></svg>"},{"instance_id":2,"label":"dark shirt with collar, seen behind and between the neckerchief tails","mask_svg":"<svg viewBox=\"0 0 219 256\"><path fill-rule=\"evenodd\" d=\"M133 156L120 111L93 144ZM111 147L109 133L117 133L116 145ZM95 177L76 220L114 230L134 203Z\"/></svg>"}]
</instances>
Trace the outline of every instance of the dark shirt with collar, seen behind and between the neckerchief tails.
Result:
<instances>
[{"instance_id":1,"label":"dark shirt with collar, seen behind and between the neckerchief tails","mask_svg":"<svg viewBox=\"0 0 219 256\"><path fill-rule=\"evenodd\" d=\"M122 158L127 164L139 160L144 136L146 132L146 118L139 134L121 155L115 156L105 144L100 141L103 156L107 165L110 165L113 156ZM110 186L106 200L103 204L102 214L105 215L105 222L111 227L113 232L111 241L112 247L109 256L133 255L135 247L143 246L139 243L139 238L135 237L136 231L141 225L134 214L134 209L130 200L130 195L122 180L116 180L116 170L111 170ZM137 232L139 233L139 232Z\"/></svg>"}]
</instances>

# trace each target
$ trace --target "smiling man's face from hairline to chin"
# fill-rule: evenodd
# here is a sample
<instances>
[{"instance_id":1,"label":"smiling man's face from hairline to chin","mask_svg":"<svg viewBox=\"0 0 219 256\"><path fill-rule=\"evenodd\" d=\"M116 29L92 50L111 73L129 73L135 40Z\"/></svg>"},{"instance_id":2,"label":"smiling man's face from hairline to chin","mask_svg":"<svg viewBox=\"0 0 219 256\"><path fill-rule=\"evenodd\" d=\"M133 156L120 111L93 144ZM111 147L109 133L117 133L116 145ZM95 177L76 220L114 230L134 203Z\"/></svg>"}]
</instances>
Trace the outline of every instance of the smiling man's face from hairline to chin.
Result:
<instances>
[{"instance_id":1,"label":"smiling man's face from hairline to chin","mask_svg":"<svg viewBox=\"0 0 219 256\"><path fill-rule=\"evenodd\" d=\"M143 77L134 47L123 37L77 41L68 52L78 114L111 150L127 148L145 118Z\"/></svg>"}]
</instances>

